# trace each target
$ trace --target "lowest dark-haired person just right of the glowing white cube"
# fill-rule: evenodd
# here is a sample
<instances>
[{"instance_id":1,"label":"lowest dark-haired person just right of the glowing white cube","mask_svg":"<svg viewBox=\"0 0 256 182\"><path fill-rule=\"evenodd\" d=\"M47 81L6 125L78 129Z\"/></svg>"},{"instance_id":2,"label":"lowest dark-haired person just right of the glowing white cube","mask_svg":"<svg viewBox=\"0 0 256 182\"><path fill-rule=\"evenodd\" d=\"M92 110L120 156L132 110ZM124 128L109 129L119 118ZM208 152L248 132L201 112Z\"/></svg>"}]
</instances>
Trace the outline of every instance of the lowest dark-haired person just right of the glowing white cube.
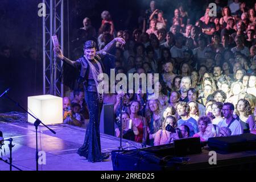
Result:
<instances>
[{"instance_id":1,"label":"lowest dark-haired person just right of the glowing white cube","mask_svg":"<svg viewBox=\"0 0 256 182\"><path fill-rule=\"evenodd\" d=\"M82 126L83 121L80 113L81 106L77 103L72 103L71 110L67 112L67 117L63 123L68 125Z\"/></svg>"}]
</instances>

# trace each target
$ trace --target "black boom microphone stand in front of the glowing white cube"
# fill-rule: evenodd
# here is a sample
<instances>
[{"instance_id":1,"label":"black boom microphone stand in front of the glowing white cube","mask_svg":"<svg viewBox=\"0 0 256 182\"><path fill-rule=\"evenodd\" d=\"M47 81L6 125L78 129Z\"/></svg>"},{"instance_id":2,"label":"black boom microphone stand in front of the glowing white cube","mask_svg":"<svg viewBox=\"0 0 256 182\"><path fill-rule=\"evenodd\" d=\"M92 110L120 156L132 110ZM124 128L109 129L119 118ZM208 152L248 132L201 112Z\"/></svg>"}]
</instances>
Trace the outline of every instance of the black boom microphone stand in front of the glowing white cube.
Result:
<instances>
[{"instance_id":1,"label":"black boom microphone stand in front of the glowing white cube","mask_svg":"<svg viewBox=\"0 0 256 182\"><path fill-rule=\"evenodd\" d=\"M15 105L17 105L18 107L20 107L23 111L25 111L27 114L31 115L31 117L35 118L36 121L34 122L34 126L36 129L36 171L38 171L38 126L40 124L42 124L43 126L45 126L49 131L51 131L51 133L56 134L55 131L53 131L52 129L50 129L48 126L44 125L44 123L42 121L40 121L40 119L36 118L34 115L32 115L30 112L28 112L26 109L24 109L24 107L20 106L18 102L14 101L12 98L10 98L9 96L7 96L7 94L5 94L5 97L8 98L10 101L14 102Z\"/></svg>"}]
</instances>

